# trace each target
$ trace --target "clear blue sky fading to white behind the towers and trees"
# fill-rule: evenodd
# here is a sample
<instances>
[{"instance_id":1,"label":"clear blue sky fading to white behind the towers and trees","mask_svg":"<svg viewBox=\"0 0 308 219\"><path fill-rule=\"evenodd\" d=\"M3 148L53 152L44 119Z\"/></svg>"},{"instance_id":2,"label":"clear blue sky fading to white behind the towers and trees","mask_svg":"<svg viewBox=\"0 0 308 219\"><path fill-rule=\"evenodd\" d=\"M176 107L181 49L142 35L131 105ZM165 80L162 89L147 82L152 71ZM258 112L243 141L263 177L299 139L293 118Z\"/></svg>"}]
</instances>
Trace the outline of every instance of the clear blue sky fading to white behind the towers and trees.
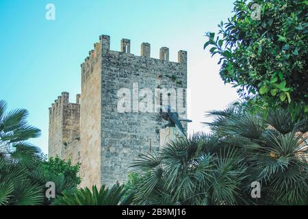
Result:
<instances>
[{"instance_id":1,"label":"clear blue sky fading to white behind the towers and trees","mask_svg":"<svg viewBox=\"0 0 308 219\"><path fill-rule=\"evenodd\" d=\"M55 5L55 21L47 21L47 3ZM206 31L217 31L227 21L233 0L0 1L0 99L10 109L29 110L31 125L42 136L31 140L44 153L48 147L48 107L62 91L71 101L80 92L80 64L101 34L110 35L111 49L131 40L131 53L151 43L151 56L169 47L170 61L177 51L188 51L189 132L208 131L201 122L208 110L222 109L237 98L219 77L218 57L203 50Z\"/></svg>"}]
</instances>

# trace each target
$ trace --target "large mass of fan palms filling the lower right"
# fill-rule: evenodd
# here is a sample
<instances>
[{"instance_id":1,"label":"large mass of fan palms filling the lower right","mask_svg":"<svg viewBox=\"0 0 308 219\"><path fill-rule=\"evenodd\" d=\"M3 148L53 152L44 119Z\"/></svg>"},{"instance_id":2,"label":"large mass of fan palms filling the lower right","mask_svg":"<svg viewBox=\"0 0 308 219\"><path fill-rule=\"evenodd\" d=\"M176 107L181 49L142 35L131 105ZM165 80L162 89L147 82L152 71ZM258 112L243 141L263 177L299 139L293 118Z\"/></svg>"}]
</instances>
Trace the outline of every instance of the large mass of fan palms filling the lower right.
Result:
<instances>
[{"instance_id":1,"label":"large mass of fan palms filling the lower right","mask_svg":"<svg viewBox=\"0 0 308 219\"><path fill-rule=\"evenodd\" d=\"M308 204L307 120L277 109L251 114L235 103L209 113L211 135L170 142L131 166L138 205ZM251 198L251 183L261 198Z\"/></svg>"}]
</instances>

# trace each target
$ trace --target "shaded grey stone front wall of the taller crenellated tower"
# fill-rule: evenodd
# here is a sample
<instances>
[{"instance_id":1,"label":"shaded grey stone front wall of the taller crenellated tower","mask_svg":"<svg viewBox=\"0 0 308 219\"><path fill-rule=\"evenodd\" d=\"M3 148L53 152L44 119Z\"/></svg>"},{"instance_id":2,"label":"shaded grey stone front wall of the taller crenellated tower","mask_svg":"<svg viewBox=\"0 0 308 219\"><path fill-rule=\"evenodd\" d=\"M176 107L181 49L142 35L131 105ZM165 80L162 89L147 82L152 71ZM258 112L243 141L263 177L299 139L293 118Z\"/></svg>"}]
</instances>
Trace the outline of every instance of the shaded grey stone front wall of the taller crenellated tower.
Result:
<instances>
[{"instance_id":1,"label":"shaded grey stone front wall of the taller crenellated tower","mask_svg":"<svg viewBox=\"0 0 308 219\"><path fill-rule=\"evenodd\" d=\"M145 45L148 47L142 44L143 49L149 49L149 44ZM179 63L169 62L166 47L161 49L161 60L149 57L149 51L136 56L127 52L130 49L108 49L102 59L101 183L112 185L127 181L136 155L159 148L159 129L166 123L157 112L117 112L118 90L132 91L133 83L138 83L139 89L150 88L153 93L155 88L186 88L187 62L185 51L179 52Z\"/></svg>"}]
</instances>

